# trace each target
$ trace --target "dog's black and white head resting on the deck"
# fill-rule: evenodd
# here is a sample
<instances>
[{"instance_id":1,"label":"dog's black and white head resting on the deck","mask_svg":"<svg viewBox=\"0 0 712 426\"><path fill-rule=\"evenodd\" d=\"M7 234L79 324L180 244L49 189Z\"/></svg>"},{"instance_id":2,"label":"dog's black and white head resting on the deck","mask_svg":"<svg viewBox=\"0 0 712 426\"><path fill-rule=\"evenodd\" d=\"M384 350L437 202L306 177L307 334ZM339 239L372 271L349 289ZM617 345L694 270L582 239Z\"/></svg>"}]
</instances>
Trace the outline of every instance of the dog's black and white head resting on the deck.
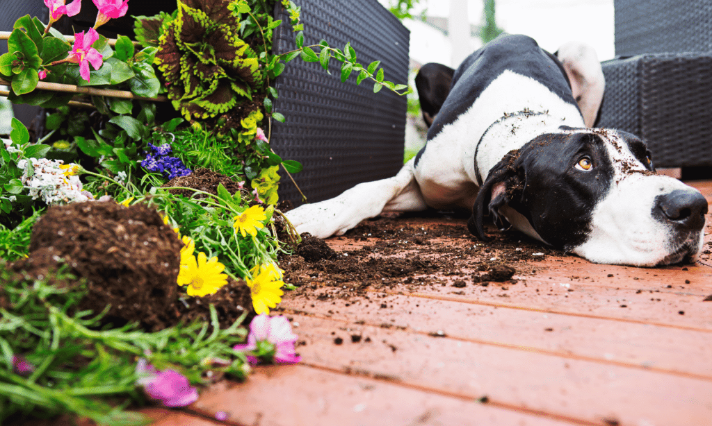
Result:
<instances>
[{"instance_id":1,"label":"dog's black and white head resting on the deck","mask_svg":"<svg viewBox=\"0 0 712 426\"><path fill-rule=\"evenodd\" d=\"M674 178L656 175L643 141L622 131L545 133L490 170L468 227L482 220L520 231L596 263L656 266L701 251L707 202Z\"/></svg>"}]
</instances>

